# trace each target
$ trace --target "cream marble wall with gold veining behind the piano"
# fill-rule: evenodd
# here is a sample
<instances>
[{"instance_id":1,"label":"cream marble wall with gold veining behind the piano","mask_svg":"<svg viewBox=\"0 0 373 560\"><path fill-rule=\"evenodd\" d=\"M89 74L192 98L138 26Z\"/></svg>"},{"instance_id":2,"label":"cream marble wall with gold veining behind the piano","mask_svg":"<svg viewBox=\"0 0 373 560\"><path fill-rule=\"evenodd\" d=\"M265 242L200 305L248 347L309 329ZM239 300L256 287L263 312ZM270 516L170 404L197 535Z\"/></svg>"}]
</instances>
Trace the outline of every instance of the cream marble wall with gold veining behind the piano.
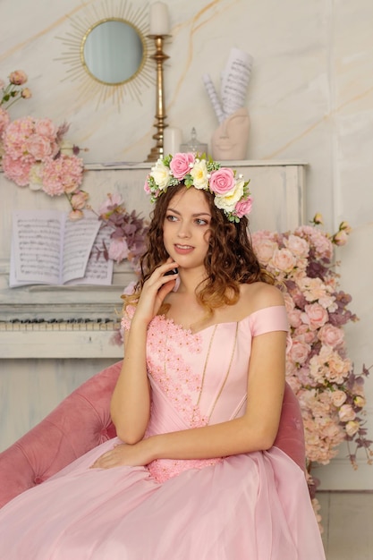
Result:
<instances>
[{"instance_id":1,"label":"cream marble wall with gold veining behind the piano","mask_svg":"<svg viewBox=\"0 0 373 560\"><path fill-rule=\"evenodd\" d=\"M118 0L119 2L119 0ZM324 215L333 230L347 220L351 241L338 253L341 284L352 293L360 322L348 327L349 352L357 369L373 363L371 275L373 242L373 4L371 0L165 0L171 38L165 45L167 123L184 140L196 126L209 142L216 116L204 89L208 72L216 88L231 47L254 58L246 106L250 111L248 159L307 161L307 217ZM93 84L83 96L72 81L61 38L74 33L77 18L108 0L2 0L0 78L23 69L33 97L13 107L19 115L49 116L71 123L70 138L89 148L88 163L142 161L154 145L154 85L144 85L141 103L126 95L118 113L98 103ZM136 7L146 5L132 0ZM151 74L151 72L150 72ZM4 193L2 193L4 196ZM372 374L373 375L373 374ZM368 425L373 432L373 380L367 384ZM339 461L339 462L338 462ZM326 484L333 485L334 462ZM344 468L344 467L343 467ZM370 470L369 470L370 469ZM372 487L372 468L348 470L351 485ZM320 473L320 478L326 477ZM326 477L326 478L327 478Z\"/></svg>"}]
</instances>

